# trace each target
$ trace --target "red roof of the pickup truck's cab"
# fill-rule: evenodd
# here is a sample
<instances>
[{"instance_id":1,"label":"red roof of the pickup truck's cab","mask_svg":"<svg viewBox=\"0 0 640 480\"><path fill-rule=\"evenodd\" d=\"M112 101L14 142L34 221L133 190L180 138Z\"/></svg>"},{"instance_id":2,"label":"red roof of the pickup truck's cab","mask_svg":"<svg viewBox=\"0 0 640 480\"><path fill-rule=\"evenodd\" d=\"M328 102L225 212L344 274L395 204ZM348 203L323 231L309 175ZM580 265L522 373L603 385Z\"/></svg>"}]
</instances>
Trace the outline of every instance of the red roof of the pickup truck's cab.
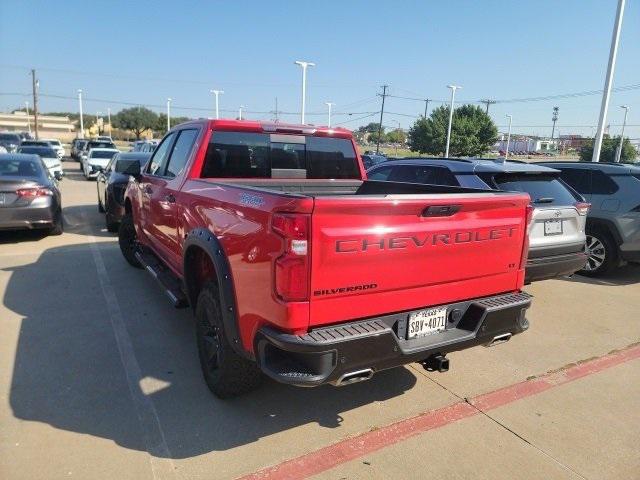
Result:
<instances>
[{"instance_id":1,"label":"red roof of the pickup truck's cab","mask_svg":"<svg viewBox=\"0 0 640 480\"><path fill-rule=\"evenodd\" d=\"M319 137L352 138L351 131L342 127L326 127L318 125L303 125L297 123L262 122L257 120L209 120L198 119L182 123L184 125L205 125L211 130L230 130L235 132L256 133L289 133L297 135L314 135ZM177 128L174 127L174 128Z\"/></svg>"}]
</instances>

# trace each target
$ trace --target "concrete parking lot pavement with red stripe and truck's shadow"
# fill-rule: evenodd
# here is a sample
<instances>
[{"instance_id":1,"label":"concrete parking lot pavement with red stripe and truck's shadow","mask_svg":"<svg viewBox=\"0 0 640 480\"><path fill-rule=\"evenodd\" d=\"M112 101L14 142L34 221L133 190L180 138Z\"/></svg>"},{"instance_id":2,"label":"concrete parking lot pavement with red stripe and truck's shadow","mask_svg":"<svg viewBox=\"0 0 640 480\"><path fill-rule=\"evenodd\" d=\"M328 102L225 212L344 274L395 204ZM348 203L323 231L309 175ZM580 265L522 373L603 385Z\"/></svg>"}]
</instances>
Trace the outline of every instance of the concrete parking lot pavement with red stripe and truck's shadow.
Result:
<instances>
[{"instance_id":1,"label":"concrete parking lot pavement with red stripe and truck's shadow","mask_svg":"<svg viewBox=\"0 0 640 480\"><path fill-rule=\"evenodd\" d=\"M445 374L221 401L64 166L65 233L0 234L0 478L640 478L640 267L527 287L531 329Z\"/></svg>"}]
</instances>

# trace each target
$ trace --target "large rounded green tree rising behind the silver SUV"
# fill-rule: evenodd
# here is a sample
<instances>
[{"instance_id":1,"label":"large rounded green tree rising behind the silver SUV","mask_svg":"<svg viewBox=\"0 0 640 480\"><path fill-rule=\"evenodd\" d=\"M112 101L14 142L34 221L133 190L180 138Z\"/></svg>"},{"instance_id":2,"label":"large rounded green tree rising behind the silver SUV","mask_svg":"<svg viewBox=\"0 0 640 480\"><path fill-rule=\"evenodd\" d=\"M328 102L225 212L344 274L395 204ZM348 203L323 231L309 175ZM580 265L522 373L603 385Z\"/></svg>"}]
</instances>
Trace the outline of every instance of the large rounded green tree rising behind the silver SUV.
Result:
<instances>
[{"instance_id":1,"label":"large rounded green tree rising behind the silver SUV","mask_svg":"<svg viewBox=\"0 0 640 480\"><path fill-rule=\"evenodd\" d=\"M443 154L448 124L448 106L436 108L429 118L419 118L409 130L409 148L414 152ZM482 155L489 151L497 138L498 128L482 108L463 105L453 111L450 156Z\"/></svg>"}]
</instances>

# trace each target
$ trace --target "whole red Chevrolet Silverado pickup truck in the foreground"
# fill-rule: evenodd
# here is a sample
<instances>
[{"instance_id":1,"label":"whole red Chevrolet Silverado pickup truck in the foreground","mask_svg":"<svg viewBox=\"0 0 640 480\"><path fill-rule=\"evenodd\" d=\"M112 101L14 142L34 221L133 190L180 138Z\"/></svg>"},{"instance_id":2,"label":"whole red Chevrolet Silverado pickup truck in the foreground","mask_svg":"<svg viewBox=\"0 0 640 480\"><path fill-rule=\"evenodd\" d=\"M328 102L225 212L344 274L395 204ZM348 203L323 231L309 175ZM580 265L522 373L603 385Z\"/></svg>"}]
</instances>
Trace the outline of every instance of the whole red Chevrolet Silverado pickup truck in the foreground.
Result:
<instances>
[{"instance_id":1,"label":"whole red Chevrolet Silverado pickup truck in the foreground","mask_svg":"<svg viewBox=\"0 0 640 480\"><path fill-rule=\"evenodd\" d=\"M132 161L119 243L190 305L220 397L344 385L529 326L529 197L369 181L348 130L198 120Z\"/></svg>"}]
</instances>

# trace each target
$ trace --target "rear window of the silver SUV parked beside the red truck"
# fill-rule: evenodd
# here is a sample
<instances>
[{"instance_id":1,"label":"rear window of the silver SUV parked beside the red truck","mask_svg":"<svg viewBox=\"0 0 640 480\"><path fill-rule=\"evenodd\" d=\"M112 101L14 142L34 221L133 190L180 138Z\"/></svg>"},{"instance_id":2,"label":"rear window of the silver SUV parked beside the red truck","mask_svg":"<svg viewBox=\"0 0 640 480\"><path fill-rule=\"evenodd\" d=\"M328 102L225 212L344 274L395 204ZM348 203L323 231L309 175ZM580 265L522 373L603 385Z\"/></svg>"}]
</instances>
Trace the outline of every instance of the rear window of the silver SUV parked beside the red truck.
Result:
<instances>
[{"instance_id":1,"label":"rear window of the silver SUV parked beside the red truck","mask_svg":"<svg viewBox=\"0 0 640 480\"><path fill-rule=\"evenodd\" d=\"M493 181L500 190L525 192L534 204L573 205L578 198L553 175L494 175Z\"/></svg>"}]
</instances>

